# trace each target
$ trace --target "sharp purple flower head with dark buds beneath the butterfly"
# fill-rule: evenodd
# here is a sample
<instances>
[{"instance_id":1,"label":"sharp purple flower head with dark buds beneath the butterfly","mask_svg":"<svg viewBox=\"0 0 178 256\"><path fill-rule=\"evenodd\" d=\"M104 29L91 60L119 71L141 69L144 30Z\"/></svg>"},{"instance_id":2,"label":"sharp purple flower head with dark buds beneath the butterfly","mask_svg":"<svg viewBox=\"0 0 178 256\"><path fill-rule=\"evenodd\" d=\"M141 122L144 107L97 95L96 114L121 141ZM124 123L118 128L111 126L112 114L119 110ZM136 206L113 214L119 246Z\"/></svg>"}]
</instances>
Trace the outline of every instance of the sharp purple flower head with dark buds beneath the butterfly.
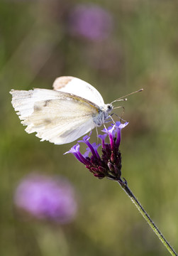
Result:
<instances>
[{"instance_id":1,"label":"sharp purple flower head with dark buds beneath the butterfly","mask_svg":"<svg viewBox=\"0 0 178 256\"><path fill-rule=\"evenodd\" d=\"M89 142L90 137L85 136L82 142L87 145L87 151L81 154L79 151L79 144L72 146L67 153L72 153L74 156L86 166L92 174L97 178L111 178L118 180L121 177L121 152L119 145L121 142L121 129L126 127L128 122L121 124L116 122L107 129L103 129L104 134L99 134L101 144ZM109 137L109 143L106 143L106 137ZM98 148L101 147L102 154L99 155ZM91 156L89 156L91 154Z\"/></svg>"}]
</instances>

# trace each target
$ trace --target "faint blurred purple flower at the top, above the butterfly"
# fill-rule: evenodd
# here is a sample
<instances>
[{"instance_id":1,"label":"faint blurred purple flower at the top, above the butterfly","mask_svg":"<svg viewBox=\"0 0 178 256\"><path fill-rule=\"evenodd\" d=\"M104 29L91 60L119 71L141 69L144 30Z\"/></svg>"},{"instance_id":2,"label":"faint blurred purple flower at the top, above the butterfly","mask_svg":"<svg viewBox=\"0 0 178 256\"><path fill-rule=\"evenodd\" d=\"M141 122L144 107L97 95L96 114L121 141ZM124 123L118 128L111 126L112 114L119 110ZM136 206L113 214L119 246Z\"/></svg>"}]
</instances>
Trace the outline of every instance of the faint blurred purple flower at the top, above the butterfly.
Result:
<instances>
[{"instance_id":1,"label":"faint blurred purple flower at the top, above the butterfly","mask_svg":"<svg viewBox=\"0 0 178 256\"><path fill-rule=\"evenodd\" d=\"M80 4L69 14L69 31L74 36L101 41L109 37L112 28L111 14L96 5Z\"/></svg>"}]
</instances>

